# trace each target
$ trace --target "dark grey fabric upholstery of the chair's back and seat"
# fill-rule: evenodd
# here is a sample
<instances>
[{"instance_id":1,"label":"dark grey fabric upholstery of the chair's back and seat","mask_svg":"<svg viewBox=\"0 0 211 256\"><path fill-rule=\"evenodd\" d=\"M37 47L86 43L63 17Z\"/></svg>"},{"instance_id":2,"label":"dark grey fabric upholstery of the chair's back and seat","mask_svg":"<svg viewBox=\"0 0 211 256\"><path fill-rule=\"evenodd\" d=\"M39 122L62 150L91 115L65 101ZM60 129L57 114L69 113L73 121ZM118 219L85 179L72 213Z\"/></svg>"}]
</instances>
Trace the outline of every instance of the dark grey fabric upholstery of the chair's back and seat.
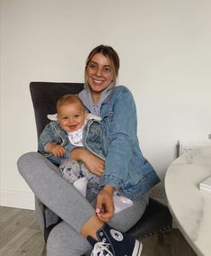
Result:
<instances>
[{"instance_id":1,"label":"dark grey fabric upholstery of the chair's back and seat","mask_svg":"<svg viewBox=\"0 0 211 256\"><path fill-rule=\"evenodd\" d=\"M31 99L34 107L34 114L37 126L37 136L40 136L44 126L48 123L47 114L55 114L56 103L59 96L65 94L78 94L84 87L82 83L52 83L52 82L31 82ZM48 233L54 227L59 218L43 206L41 202L36 204L36 211L41 212L45 240ZM40 214L39 214L40 215ZM54 216L52 218L52 215ZM51 221L52 220L52 221ZM167 206L159 203L153 198L149 199L149 205L143 217L127 232L136 238L143 239L154 233L161 233L171 229L172 217Z\"/></svg>"}]
</instances>

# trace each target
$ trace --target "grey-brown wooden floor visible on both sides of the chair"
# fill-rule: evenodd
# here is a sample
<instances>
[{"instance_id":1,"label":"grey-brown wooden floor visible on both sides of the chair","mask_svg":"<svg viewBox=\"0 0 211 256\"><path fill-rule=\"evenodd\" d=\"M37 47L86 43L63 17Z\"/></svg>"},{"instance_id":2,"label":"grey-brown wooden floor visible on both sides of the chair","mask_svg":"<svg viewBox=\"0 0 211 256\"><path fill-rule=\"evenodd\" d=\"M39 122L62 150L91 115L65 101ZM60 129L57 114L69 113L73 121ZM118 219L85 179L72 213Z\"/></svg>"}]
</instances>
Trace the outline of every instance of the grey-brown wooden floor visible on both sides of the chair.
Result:
<instances>
[{"instance_id":1,"label":"grey-brown wooden floor visible on both sides of the chair","mask_svg":"<svg viewBox=\"0 0 211 256\"><path fill-rule=\"evenodd\" d=\"M178 229L143 241L142 256L196 256ZM46 256L34 211L0 206L0 255Z\"/></svg>"}]
</instances>

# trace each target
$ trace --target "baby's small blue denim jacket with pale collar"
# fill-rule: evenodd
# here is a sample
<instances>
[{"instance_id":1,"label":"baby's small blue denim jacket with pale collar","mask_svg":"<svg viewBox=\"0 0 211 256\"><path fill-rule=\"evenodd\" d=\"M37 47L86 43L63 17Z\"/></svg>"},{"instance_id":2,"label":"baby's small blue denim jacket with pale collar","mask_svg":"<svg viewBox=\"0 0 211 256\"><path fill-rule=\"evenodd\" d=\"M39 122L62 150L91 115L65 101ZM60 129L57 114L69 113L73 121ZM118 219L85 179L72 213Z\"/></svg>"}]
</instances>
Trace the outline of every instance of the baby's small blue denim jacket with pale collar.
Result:
<instances>
[{"instance_id":1,"label":"baby's small blue denim jacket with pale collar","mask_svg":"<svg viewBox=\"0 0 211 256\"><path fill-rule=\"evenodd\" d=\"M91 151L93 154L104 160L106 150L103 148L103 141L105 141L105 135L102 133L101 129L101 118L99 118L99 116L94 116L93 114L88 114L87 119L83 131L83 145L88 151ZM45 150L49 142L59 144L65 148L66 153L63 158L56 158ZM70 152L74 148L75 146L68 139L68 134L61 128L57 121L48 123L40 134L40 153L56 164L60 164L61 160L68 159L70 157Z\"/></svg>"}]
</instances>

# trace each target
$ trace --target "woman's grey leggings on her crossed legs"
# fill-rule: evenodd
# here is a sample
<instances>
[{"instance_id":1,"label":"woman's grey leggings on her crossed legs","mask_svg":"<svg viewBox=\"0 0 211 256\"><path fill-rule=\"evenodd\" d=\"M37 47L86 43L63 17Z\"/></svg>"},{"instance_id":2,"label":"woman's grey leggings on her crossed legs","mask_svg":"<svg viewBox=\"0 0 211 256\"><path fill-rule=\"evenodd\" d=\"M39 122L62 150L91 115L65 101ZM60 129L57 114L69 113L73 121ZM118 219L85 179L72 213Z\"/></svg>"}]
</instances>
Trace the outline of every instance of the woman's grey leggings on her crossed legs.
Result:
<instances>
[{"instance_id":1,"label":"woman's grey leggings on her crossed legs","mask_svg":"<svg viewBox=\"0 0 211 256\"><path fill-rule=\"evenodd\" d=\"M80 234L80 230L95 214L95 198L84 198L61 177L57 167L40 153L22 155L18 160L18 169L35 196L63 220L48 236L47 255L76 256L91 251L91 245ZM133 206L114 215L110 225L126 232L144 214L147 204L145 198L136 200Z\"/></svg>"}]
</instances>

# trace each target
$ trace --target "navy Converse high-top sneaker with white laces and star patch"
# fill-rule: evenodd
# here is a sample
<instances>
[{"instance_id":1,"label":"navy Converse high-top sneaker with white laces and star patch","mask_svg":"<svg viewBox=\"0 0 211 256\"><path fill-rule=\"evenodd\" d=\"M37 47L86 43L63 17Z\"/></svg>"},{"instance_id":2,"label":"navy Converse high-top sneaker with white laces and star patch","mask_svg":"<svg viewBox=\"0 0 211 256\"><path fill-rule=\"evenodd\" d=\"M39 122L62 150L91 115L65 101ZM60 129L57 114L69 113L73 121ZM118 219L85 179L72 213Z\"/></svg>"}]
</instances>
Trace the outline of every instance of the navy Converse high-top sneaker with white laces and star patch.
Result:
<instances>
[{"instance_id":1,"label":"navy Converse high-top sneaker with white laces and star patch","mask_svg":"<svg viewBox=\"0 0 211 256\"><path fill-rule=\"evenodd\" d=\"M142 243L126 233L121 233L105 224L98 232L96 241L91 236L88 242L93 246L91 256L140 256Z\"/></svg>"}]
</instances>

